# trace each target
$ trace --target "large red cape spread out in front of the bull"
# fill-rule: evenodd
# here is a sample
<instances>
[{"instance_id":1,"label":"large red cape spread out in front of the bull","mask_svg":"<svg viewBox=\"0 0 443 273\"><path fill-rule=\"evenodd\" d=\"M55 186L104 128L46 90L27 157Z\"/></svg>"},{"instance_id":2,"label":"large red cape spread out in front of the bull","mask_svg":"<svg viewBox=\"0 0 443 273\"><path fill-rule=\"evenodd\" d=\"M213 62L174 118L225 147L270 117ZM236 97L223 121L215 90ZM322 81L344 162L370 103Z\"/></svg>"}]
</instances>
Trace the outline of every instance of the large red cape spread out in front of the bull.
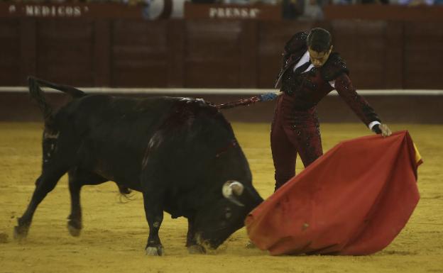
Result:
<instances>
[{"instance_id":1,"label":"large red cape spread out in front of the bull","mask_svg":"<svg viewBox=\"0 0 443 273\"><path fill-rule=\"evenodd\" d=\"M420 195L420 154L407 131L339 143L246 218L271 255L368 255L389 245Z\"/></svg>"}]
</instances>

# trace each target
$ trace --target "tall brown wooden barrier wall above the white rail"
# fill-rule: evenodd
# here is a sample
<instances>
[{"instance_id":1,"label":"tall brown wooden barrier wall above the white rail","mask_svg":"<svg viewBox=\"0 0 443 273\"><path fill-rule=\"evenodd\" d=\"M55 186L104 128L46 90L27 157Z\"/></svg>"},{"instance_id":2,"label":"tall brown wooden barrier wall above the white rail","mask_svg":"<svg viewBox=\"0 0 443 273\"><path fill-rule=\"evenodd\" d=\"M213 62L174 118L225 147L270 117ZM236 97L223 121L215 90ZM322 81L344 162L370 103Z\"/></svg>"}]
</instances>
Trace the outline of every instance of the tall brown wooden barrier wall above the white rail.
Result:
<instances>
[{"instance_id":1,"label":"tall brown wooden barrier wall above the white rail","mask_svg":"<svg viewBox=\"0 0 443 273\"><path fill-rule=\"evenodd\" d=\"M359 89L443 89L436 23L0 18L0 86L272 88L285 41L322 26Z\"/></svg>"}]
</instances>

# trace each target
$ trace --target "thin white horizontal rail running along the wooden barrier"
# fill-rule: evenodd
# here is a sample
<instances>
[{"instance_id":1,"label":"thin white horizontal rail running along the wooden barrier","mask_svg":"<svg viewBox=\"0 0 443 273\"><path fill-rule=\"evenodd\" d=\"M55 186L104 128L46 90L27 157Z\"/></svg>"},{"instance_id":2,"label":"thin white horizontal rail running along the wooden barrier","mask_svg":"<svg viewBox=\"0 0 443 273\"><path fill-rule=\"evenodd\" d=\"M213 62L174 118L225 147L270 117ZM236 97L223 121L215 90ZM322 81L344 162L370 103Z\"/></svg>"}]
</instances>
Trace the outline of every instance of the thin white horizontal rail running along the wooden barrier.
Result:
<instances>
[{"instance_id":1,"label":"thin white horizontal rail running along the wooden barrier","mask_svg":"<svg viewBox=\"0 0 443 273\"><path fill-rule=\"evenodd\" d=\"M88 94L205 94L205 95L258 95L268 92L277 93L276 89L212 89L212 88L109 88L109 87L78 87ZM45 88L48 93L60 91ZM28 92L28 87L0 87L0 92ZM432 89L359 89L362 96L442 96L443 90ZM332 91L329 96L338 96Z\"/></svg>"}]
</instances>

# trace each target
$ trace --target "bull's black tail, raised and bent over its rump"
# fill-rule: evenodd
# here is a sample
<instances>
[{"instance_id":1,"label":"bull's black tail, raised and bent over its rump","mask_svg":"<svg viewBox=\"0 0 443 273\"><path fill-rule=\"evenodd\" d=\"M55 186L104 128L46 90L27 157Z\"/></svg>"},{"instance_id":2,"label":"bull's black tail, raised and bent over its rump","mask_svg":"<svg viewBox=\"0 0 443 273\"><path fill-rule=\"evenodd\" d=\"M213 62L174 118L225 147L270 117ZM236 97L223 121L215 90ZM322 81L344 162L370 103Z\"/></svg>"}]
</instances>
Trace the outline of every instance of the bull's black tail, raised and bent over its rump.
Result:
<instances>
[{"instance_id":1,"label":"bull's black tail, raised and bent over its rump","mask_svg":"<svg viewBox=\"0 0 443 273\"><path fill-rule=\"evenodd\" d=\"M45 118L45 122L50 121L52 114L53 114L53 108L46 102L45 96L43 95L42 89L40 87L50 87L56 90L63 91L72 98L80 98L82 96L86 96L86 94L75 87L70 87L67 85L61 85L61 84L54 84L52 82L46 82L43 79L38 79L35 77L28 77L28 87L29 87L29 94L31 94L31 97L35 99L38 103L38 107L40 107L40 110L43 112L43 117Z\"/></svg>"}]
</instances>

